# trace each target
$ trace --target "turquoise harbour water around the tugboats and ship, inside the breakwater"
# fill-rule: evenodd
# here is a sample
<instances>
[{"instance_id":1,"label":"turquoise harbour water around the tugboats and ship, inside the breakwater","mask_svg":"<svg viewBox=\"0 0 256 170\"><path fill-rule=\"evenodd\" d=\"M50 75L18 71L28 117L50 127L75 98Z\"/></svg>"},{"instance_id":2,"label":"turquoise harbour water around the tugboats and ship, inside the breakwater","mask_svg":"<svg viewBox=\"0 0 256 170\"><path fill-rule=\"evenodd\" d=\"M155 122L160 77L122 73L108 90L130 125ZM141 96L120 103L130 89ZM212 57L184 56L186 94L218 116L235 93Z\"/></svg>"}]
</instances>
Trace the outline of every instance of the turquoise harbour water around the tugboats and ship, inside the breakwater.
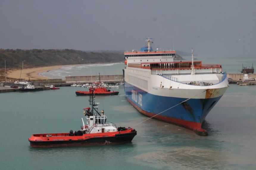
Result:
<instances>
[{"instance_id":1,"label":"turquoise harbour water around the tugboats and ship, inside the breakwater","mask_svg":"<svg viewBox=\"0 0 256 170\"><path fill-rule=\"evenodd\" d=\"M118 96L96 96L108 121L134 127L132 143L31 148L34 133L78 130L88 96L78 87L0 93L0 169L256 169L256 87L230 85L206 117L209 136L145 119Z\"/></svg>"}]
</instances>

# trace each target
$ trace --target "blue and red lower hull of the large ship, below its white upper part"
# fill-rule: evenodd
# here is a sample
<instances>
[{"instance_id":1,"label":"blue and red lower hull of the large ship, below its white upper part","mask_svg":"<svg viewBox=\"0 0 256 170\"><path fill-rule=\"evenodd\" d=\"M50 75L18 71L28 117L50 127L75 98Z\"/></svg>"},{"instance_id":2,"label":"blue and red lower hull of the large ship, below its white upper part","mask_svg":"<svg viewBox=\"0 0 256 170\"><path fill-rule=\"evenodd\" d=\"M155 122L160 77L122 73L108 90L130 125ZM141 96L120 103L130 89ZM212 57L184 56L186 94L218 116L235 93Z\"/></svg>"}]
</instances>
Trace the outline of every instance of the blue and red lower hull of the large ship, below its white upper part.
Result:
<instances>
[{"instance_id":1,"label":"blue and red lower hull of the large ship, below its white upper part","mask_svg":"<svg viewBox=\"0 0 256 170\"><path fill-rule=\"evenodd\" d=\"M124 85L127 100L138 111L149 117L157 115L186 100L186 98L150 94L127 82L124 82ZM221 96L206 99L190 99L154 118L191 129L199 135L207 136L207 132L201 128L202 122L220 98Z\"/></svg>"}]
</instances>

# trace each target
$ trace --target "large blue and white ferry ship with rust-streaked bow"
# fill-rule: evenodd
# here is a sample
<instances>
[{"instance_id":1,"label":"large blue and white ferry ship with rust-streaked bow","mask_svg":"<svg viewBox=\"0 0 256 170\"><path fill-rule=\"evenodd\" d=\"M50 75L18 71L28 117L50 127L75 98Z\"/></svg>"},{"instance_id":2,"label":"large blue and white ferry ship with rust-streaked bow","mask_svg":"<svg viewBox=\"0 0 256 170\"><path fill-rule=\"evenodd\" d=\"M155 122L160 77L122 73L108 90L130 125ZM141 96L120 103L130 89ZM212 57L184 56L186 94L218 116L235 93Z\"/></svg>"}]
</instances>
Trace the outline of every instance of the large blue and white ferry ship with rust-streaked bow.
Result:
<instances>
[{"instance_id":1,"label":"large blue and white ferry ship with rust-streaked bow","mask_svg":"<svg viewBox=\"0 0 256 170\"><path fill-rule=\"evenodd\" d=\"M174 61L174 50L153 50L146 39L141 50L125 51L124 86L127 100L142 114L176 124L201 136L207 114L227 90L219 64Z\"/></svg>"}]
</instances>

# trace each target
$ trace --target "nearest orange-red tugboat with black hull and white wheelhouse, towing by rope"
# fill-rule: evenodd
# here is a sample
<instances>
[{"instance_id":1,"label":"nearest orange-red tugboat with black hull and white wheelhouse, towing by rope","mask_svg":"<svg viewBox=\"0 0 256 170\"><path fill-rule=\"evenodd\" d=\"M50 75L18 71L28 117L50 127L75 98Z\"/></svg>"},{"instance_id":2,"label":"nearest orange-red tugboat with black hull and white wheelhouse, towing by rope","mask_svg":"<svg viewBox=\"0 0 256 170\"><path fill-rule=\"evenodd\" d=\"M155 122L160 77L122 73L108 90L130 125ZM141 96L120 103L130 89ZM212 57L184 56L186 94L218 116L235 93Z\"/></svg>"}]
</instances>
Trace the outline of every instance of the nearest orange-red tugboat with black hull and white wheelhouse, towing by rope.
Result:
<instances>
[{"instance_id":1,"label":"nearest orange-red tugboat with black hull and white wheelhouse, towing by rope","mask_svg":"<svg viewBox=\"0 0 256 170\"><path fill-rule=\"evenodd\" d=\"M95 103L95 88L90 88L90 105L84 108L86 125L73 133L33 134L29 138L31 147L63 147L83 146L87 144L110 144L131 142L137 131L133 128L116 127L114 123L107 122L104 110L98 112L99 103ZM92 109L91 109L92 108Z\"/></svg>"}]
</instances>

